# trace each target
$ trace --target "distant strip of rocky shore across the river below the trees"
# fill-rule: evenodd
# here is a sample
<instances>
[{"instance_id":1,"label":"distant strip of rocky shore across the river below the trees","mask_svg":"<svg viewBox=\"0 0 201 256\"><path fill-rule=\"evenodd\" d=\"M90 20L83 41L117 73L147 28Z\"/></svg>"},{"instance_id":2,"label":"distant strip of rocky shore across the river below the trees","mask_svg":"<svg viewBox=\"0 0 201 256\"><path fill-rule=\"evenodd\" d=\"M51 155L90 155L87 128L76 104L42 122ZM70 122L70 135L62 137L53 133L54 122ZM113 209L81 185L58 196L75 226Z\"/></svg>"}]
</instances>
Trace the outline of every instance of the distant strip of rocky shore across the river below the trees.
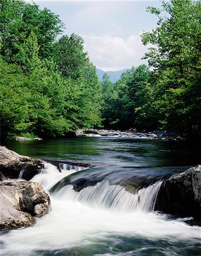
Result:
<instances>
[{"instance_id":1,"label":"distant strip of rocky shore across the river below the trees","mask_svg":"<svg viewBox=\"0 0 201 256\"><path fill-rule=\"evenodd\" d=\"M105 130L105 129L89 129L76 130L72 133L76 137L124 137L135 139L149 139L158 141L183 141L177 132L153 131L153 132L137 132L135 129L127 131Z\"/></svg>"}]
</instances>

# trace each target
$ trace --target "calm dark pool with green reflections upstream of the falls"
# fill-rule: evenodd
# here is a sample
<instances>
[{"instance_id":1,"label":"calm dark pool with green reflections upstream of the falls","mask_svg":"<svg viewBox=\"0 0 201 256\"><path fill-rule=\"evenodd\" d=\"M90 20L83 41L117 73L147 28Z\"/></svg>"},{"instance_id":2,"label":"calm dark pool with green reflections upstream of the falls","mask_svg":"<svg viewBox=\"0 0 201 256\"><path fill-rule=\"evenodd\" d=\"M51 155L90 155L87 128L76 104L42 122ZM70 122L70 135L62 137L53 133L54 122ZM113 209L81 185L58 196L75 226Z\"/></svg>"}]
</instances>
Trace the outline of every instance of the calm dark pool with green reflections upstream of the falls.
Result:
<instances>
[{"instance_id":1,"label":"calm dark pool with green reflections upstream of the falls","mask_svg":"<svg viewBox=\"0 0 201 256\"><path fill-rule=\"evenodd\" d=\"M133 138L68 138L45 141L9 141L5 145L22 155L87 160L135 167L195 166L199 143L143 141Z\"/></svg>"}]
</instances>

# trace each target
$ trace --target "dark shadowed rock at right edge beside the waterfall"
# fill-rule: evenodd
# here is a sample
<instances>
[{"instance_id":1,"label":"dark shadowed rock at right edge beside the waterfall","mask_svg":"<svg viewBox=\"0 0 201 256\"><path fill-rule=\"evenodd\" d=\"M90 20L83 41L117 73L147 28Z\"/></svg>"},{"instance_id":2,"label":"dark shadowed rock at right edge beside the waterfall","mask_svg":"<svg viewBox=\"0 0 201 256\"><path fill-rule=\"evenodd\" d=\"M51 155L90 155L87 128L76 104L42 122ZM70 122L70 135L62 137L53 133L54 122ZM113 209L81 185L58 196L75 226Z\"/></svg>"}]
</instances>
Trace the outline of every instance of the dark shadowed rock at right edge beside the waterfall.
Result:
<instances>
[{"instance_id":1,"label":"dark shadowed rock at right edge beside the waterfall","mask_svg":"<svg viewBox=\"0 0 201 256\"><path fill-rule=\"evenodd\" d=\"M201 165L165 180L155 210L201 220Z\"/></svg>"}]
</instances>

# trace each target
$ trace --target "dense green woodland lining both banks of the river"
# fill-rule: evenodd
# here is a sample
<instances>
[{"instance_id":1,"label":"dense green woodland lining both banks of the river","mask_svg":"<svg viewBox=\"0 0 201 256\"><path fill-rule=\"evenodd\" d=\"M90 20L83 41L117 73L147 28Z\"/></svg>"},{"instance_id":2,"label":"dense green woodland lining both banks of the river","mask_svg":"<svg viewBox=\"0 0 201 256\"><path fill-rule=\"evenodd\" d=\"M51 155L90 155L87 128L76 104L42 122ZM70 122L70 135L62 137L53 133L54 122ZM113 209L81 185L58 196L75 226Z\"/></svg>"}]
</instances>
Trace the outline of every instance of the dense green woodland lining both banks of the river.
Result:
<instances>
[{"instance_id":1,"label":"dense green woodland lining both banks of the river","mask_svg":"<svg viewBox=\"0 0 201 256\"><path fill-rule=\"evenodd\" d=\"M201 130L200 1L161 1L146 65L99 82L78 35L35 3L0 1L1 137L58 137L90 127ZM133 24L135 26L135 24Z\"/></svg>"}]
</instances>

